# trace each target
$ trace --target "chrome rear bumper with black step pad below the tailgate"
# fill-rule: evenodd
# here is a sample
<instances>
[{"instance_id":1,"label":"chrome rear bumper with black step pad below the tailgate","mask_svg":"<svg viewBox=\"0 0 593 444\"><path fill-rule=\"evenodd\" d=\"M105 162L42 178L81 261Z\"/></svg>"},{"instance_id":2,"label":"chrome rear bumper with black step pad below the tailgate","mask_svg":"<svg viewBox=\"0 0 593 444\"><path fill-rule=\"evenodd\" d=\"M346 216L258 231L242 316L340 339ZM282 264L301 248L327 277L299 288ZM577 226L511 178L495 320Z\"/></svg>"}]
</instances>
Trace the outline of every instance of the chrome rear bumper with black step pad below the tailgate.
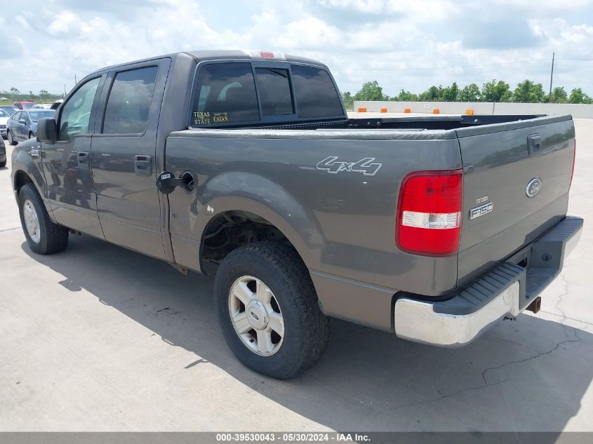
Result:
<instances>
[{"instance_id":1,"label":"chrome rear bumper with black step pad below the tailgate","mask_svg":"<svg viewBox=\"0 0 593 444\"><path fill-rule=\"evenodd\" d=\"M583 220L568 216L538 241L444 302L408 297L394 304L398 337L441 347L460 347L502 317L514 318L554 280L577 245Z\"/></svg>"}]
</instances>

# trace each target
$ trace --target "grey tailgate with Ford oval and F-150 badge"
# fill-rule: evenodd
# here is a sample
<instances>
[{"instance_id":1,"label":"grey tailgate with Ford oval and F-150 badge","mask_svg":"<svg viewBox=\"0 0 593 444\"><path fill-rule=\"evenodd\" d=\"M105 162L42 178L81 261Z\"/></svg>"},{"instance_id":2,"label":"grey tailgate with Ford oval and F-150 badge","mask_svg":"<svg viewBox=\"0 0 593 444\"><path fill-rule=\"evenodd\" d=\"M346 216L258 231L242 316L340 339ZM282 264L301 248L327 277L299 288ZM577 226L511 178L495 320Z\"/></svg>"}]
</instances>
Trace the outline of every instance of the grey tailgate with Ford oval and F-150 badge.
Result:
<instances>
[{"instance_id":1,"label":"grey tailgate with Ford oval and F-150 badge","mask_svg":"<svg viewBox=\"0 0 593 444\"><path fill-rule=\"evenodd\" d=\"M566 215L571 116L457 130L464 168L458 287Z\"/></svg>"}]
</instances>

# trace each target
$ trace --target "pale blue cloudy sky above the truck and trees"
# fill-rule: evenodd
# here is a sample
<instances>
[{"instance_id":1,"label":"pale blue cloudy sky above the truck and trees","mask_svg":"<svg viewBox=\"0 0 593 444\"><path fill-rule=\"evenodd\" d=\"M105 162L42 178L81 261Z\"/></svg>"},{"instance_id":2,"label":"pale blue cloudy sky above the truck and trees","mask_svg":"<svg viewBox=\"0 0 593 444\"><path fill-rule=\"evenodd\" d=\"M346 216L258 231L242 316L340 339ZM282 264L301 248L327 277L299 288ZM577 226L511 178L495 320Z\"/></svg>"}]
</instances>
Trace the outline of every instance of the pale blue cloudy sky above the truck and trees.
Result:
<instances>
[{"instance_id":1,"label":"pale blue cloudy sky above the truck and trees","mask_svg":"<svg viewBox=\"0 0 593 444\"><path fill-rule=\"evenodd\" d=\"M119 62L272 49L326 62L342 91L533 79L593 95L593 0L0 0L0 90L63 92Z\"/></svg>"}]
</instances>

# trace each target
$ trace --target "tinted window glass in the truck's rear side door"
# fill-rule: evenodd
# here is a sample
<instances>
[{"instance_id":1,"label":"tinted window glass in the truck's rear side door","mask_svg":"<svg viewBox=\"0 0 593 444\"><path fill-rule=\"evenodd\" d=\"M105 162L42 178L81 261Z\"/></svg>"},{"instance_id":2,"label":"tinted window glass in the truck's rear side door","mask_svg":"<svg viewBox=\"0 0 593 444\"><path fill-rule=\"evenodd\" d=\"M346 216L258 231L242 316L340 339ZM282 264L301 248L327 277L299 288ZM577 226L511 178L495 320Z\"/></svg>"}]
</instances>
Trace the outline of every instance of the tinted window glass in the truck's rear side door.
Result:
<instances>
[{"instance_id":1,"label":"tinted window glass in the truck's rear side door","mask_svg":"<svg viewBox=\"0 0 593 444\"><path fill-rule=\"evenodd\" d=\"M158 67L118 72L107 99L103 134L144 133Z\"/></svg>"}]
</instances>

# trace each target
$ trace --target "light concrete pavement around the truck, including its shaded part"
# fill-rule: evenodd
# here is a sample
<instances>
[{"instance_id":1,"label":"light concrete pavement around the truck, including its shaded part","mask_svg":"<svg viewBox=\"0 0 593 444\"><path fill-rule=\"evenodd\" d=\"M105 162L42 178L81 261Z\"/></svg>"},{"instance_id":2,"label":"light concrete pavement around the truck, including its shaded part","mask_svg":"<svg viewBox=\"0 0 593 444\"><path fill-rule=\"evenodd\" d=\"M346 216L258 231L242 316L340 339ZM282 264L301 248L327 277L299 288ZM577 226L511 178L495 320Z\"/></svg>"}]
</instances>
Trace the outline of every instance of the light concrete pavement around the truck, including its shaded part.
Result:
<instances>
[{"instance_id":1,"label":"light concrete pavement around the truck, including its shaded part","mask_svg":"<svg viewBox=\"0 0 593 444\"><path fill-rule=\"evenodd\" d=\"M236 361L211 277L90 236L32 253L1 168L0 431L593 431L593 121L576 125L585 231L539 314L462 349L333 321L288 382Z\"/></svg>"}]
</instances>

